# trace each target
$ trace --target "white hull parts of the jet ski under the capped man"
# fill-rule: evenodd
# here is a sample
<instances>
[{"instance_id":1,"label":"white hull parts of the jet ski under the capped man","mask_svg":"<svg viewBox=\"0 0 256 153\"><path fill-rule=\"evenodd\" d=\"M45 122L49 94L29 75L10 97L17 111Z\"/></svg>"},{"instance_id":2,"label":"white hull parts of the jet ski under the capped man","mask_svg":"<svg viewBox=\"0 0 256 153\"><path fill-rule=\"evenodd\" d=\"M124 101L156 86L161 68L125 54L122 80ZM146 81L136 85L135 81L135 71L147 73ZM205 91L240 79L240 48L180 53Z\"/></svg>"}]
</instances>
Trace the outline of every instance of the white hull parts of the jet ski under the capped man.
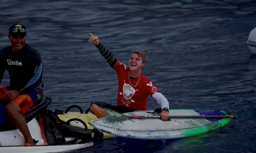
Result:
<instances>
[{"instance_id":1,"label":"white hull parts of the jet ski under the capped man","mask_svg":"<svg viewBox=\"0 0 256 153\"><path fill-rule=\"evenodd\" d=\"M27 123L29 131L33 139L38 140L36 146L24 146L25 139L21 132L16 130L1 131L0 132L0 153L49 153L49 152L62 152L69 151L84 147L90 147L94 143L76 143L76 144L63 144L63 145L45 145L44 139L41 135L39 123L34 118ZM65 138L66 141L71 141L76 138ZM81 139L78 139L81 141Z\"/></svg>"}]
</instances>

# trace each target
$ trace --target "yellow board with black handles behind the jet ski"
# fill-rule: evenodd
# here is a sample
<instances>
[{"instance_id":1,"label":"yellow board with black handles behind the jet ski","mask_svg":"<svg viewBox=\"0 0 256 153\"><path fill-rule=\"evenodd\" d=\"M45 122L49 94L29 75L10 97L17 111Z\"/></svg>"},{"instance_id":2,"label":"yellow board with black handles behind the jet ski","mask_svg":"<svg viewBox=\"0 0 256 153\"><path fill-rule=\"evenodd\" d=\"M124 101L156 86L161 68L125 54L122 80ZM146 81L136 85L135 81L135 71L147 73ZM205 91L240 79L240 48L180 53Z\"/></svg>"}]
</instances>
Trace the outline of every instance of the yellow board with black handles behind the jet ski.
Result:
<instances>
[{"instance_id":1,"label":"yellow board with black handles behind the jet ski","mask_svg":"<svg viewBox=\"0 0 256 153\"><path fill-rule=\"evenodd\" d=\"M64 113L64 115L62 114L59 114L58 117L63 120L64 122L67 122L69 119L73 119L73 118L76 118L76 119L82 119L88 129L93 129L94 127L92 127L90 124L88 124L88 122L92 119L97 119L97 117L95 115L93 115L92 113L88 113L88 114L81 114L79 112L68 112L67 114ZM77 126L77 127L82 127L84 128L84 125L80 122L70 122L71 125L73 126ZM103 132L104 134L104 137L103 138L113 138L115 137L115 135L111 135L111 134L108 134L108 133L105 133Z\"/></svg>"}]
</instances>

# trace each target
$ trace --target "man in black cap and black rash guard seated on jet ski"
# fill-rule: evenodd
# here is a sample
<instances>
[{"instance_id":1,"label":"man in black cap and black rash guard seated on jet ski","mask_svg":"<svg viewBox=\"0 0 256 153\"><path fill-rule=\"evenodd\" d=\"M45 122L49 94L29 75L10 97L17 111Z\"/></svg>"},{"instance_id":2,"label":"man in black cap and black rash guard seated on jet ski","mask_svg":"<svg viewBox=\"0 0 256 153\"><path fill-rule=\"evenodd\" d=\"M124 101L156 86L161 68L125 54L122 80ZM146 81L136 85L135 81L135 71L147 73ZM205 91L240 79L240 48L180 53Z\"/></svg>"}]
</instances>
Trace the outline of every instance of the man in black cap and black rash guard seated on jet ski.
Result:
<instances>
[{"instance_id":1,"label":"man in black cap and black rash guard seated on jet ski","mask_svg":"<svg viewBox=\"0 0 256 153\"><path fill-rule=\"evenodd\" d=\"M43 59L38 50L26 44L26 36L22 24L10 26L11 45L0 50L0 84L7 70L10 85L0 87L0 100L7 101L6 113L23 134L25 145L34 145L24 115L42 99Z\"/></svg>"}]
</instances>

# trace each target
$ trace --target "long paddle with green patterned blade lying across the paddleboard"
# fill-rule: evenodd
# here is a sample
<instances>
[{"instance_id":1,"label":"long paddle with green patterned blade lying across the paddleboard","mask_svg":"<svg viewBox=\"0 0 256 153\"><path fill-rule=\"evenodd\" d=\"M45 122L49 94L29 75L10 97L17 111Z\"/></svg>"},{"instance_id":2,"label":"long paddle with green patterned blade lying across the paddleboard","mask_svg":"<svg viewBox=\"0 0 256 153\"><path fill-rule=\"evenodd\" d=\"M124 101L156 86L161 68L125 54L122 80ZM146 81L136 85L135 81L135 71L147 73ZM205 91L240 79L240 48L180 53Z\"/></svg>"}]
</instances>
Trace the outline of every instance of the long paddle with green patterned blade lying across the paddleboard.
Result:
<instances>
[{"instance_id":1,"label":"long paddle with green patterned blade lying across the paddleboard","mask_svg":"<svg viewBox=\"0 0 256 153\"><path fill-rule=\"evenodd\" d=\"M105 113L108 117L112 119L161 119L161 116L159 115L153 115L153 116L136 116L136 115L124 115L117 111L111 110L109 108L104 108ZM195 118L233 118L237 119L237 115L212 115L212 116L200 116L200 115L191 115L191 116L169 116L169 119L195 119Z\"/></svg>"}]
</instances>

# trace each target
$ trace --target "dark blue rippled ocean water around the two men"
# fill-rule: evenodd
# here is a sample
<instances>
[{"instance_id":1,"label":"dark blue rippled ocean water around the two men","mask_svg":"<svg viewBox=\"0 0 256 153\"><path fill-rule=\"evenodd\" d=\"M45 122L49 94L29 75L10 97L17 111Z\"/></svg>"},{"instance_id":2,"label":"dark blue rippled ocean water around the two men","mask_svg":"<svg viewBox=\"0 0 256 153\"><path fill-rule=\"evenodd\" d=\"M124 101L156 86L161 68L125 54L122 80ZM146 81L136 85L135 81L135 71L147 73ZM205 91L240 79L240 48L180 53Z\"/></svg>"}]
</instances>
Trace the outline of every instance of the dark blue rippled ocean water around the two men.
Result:
<instances>
[{"instance_id":1,"label":"dark blue rippled ocean water around the two men","mask_svg":"<svg viewBox=\"0 0 256 153\"><path fill-rule=\"evenodd\" d=\"M115 71L88 42L91 32L126 64L132 50L145 51L143 73L170 108L217 108L241 123L183 139L103 139L68 153L256 152L256 58L246 44L256 27L256 1L1 0L0 11L0 48L19 22L27 43L43 55L49 109L116 103ZM149 98L148 109L157 107Z\"/></svg>"}]
</instances>

